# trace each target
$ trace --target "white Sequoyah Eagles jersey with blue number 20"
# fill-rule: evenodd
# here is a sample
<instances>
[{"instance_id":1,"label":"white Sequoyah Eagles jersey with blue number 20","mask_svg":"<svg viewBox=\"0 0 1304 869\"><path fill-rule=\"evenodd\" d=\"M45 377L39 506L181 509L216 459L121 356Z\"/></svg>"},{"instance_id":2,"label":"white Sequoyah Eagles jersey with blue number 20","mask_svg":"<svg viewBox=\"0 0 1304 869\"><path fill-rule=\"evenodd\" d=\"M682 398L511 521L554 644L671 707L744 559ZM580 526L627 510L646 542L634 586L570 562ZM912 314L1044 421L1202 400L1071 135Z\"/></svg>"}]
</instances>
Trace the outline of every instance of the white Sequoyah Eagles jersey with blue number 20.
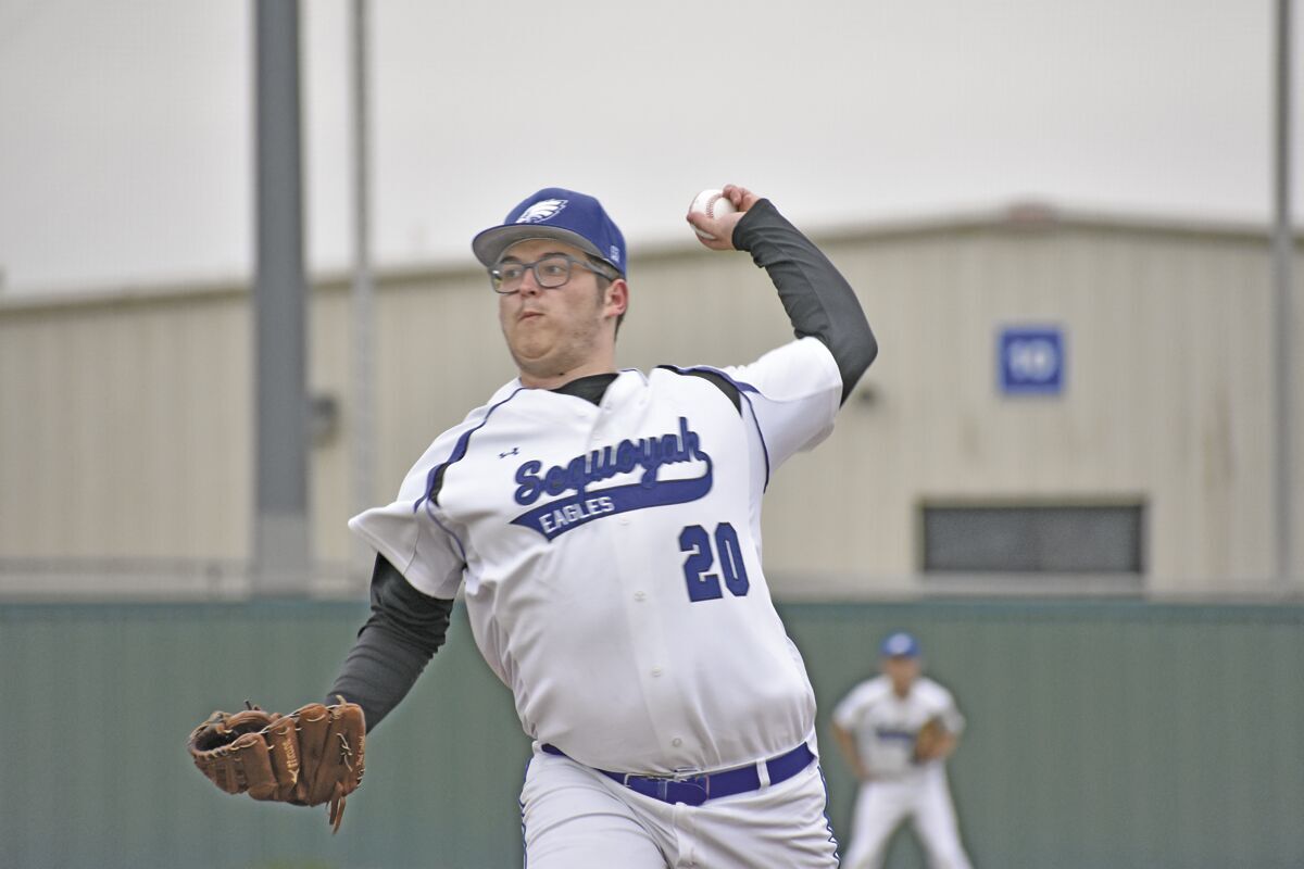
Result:
<instances>
[{"instance_id":1,"label":"white Sequoyah Eagles jersey with blue number 20","mask_svg":"<svg viewBox=\"0 0 1304 869\"><path fill-rule=\"evenodd\" d=\"M841 375L812 337L721 369L741 408L689 371L622 371L600 405L514 380L349 522L420 591L464 588L524 731L599 769L725 769L814 732L760 500L832 430Z\"/></svg>"}]
</instances>

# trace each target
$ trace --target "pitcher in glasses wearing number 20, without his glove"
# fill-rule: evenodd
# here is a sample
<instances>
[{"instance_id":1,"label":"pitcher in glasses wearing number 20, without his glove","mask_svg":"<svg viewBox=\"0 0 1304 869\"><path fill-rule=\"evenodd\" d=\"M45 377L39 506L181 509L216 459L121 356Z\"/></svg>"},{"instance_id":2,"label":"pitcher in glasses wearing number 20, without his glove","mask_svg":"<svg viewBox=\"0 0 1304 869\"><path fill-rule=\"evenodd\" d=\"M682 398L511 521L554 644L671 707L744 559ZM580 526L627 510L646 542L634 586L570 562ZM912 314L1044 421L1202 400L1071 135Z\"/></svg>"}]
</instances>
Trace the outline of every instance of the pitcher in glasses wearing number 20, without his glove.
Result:
<instances>
[{"instance_id":1,"label":"pitcher in glasses wearing number 20, without his glove","mask_svg":"<svg viewBox=\"0 0 1304 869\"><path fill-rule=\"evenodd\" d=\"M374 730L460 590L533 739L531 869L836 865L760 498L878 348L832 263L767 199L725 194L737 212L689 221L767 270L795 340L737 367L618 370L623 236L597 199L540 190L472 241L519 377L349 522L378 552L372 616L330 694Z\"/></svg>"}]
</instances>

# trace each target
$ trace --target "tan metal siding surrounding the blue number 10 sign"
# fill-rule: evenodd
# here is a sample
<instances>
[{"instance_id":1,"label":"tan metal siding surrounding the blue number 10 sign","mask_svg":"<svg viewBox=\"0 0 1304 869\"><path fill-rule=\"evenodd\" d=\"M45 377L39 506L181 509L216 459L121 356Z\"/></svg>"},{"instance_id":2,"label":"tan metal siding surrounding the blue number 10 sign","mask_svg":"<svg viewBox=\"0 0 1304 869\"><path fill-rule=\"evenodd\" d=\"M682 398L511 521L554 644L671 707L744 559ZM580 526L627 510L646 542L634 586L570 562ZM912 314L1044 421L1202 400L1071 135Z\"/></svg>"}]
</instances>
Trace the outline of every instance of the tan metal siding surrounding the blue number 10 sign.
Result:
<instances>
[{"instance_id":1,"label":"tan metal siding surrounding the blue number 10 sign","mask_svg":"<svg viewBox=\"0 0 1304 869\"><path fill-rule=\"evenodd\" d=\"M1267 284L1257 249L995 231L897 248L831 250L879 331L866 377L875 403L853 399L805 465L808 485L776 481L767 555L778 572L861 571L876 585L879 575L910 575L918 500L970 496L1142 498L1157 590L1270 575ZM995 328L1047 322L1067 334L1064 396L996 395ZM829 539L840 520L822 516L812 529L803 513L836 491L861 496L840 515L865 524ZM859 545L841 543L853 537Z\"/></svg>"}]
</instances>

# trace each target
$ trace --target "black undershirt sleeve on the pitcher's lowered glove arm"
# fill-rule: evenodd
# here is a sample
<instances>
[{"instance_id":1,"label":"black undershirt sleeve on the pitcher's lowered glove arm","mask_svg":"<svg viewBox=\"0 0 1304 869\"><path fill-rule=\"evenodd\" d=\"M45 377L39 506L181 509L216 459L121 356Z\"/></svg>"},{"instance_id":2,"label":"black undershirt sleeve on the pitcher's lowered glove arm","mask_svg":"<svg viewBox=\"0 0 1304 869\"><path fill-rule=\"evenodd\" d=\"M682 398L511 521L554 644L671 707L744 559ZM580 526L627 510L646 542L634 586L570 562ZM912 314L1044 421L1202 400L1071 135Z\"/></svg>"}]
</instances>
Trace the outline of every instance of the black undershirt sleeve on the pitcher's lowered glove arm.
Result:
<instances>
[{"instance_id":1,"label":"black undershirt sleeve on the pitcher's lowered glove arm","mask_svg":"<svg viewBox=\"0 0 1304 869\"><path fill-rule=\"evenodd\" d=\"M327 697L363 707L368 732L407 697L443 645L452 601L416 590L383 555L372 572L372 616L340 667Z\"/></svg>"}]
</instances>

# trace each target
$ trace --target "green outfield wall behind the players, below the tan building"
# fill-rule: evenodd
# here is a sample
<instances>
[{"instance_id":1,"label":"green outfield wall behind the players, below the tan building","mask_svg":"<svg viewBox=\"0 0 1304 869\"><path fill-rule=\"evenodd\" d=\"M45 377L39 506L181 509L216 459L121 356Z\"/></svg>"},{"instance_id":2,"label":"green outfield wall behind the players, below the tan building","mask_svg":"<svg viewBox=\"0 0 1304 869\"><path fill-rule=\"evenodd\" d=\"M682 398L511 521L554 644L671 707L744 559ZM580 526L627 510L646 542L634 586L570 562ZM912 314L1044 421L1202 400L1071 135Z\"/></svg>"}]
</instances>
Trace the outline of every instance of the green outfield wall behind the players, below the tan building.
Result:
<instances>
[{"instance_id":1,"label":"green outfield wall behind the players, below the tan building","mask_svg":"<svg viewBox=\"0 0 1304 869\"><path fill-rule=\"evenodd\" d=\"M854 783L828 714L878 638L909 628L969 719L951 778L975 866L1304 865L1299 603L781 610L819 697L840 839ZM214 709L321 698L364 618L334 602L0 605L0 866L519 866L528 743L460 607L369 739L338 835L325 809L226 796L190 765L185 737ZM888 866L922 865L900 834Z\"/></svg>"}]
</instances>

